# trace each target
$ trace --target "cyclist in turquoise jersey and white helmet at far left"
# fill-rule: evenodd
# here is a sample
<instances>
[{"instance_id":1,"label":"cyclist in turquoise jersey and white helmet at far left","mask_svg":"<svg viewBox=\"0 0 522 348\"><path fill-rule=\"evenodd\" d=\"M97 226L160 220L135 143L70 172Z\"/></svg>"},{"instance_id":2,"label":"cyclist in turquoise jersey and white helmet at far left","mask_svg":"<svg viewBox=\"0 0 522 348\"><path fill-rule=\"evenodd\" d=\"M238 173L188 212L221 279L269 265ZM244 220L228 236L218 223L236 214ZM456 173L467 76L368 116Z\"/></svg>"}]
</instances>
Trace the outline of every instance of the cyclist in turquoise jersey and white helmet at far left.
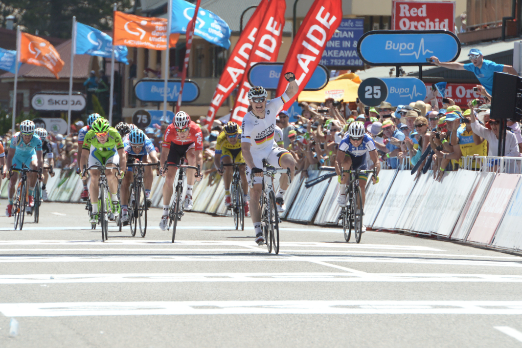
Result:
<instances>
[{"instance_id":1,"label":"cyclist in turquoise jersey and white helmet at far left","mask_svg":"<svg viewBox=\"0 0 522 348\"><path fill-rule=\"evenodd\" d=\"M16 181L18 180L18 172L10 172L11 166L16 169L22 169L22 164L25 164L29 169L42 169L42 141L40 136L34 133L34 122L25 120L20 123L20 131L13 135L11 139L11 145L9 146L9 152L7 153L7 167L6 177L9 180L8 187L8 198L9 204L7 205L6 215L11 216L13 213L13 196L16 189ZM29 189L28 189L28 209L29 212L34 206L34 187L36 181L41 180L38 178L37 173L28 173L27 175Z\"/></svg>"}]
</instances>

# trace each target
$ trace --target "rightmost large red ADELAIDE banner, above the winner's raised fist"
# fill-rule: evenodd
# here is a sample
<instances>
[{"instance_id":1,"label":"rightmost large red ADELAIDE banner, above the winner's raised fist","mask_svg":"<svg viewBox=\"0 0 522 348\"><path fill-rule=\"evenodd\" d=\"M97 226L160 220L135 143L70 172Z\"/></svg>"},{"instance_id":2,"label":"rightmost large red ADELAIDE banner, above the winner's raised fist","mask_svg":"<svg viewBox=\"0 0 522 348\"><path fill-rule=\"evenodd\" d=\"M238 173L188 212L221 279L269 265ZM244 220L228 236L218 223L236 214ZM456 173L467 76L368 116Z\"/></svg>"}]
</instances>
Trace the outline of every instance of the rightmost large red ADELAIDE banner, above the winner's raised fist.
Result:
<instances>
[{"instance_id":1,"label":"rightmost large red ADELAIDE banner, above the winner's raised fist","mask_svg":"<svg viewBox=\"0 0 522 348\"><path fill-rule=\"evenodd\" d=\"M282 95L287 89L288 81L284 79L285 73L293 72L295 81L299 85L298 93L293 100L284 104L284 110L292 105L312 77L319 60L321 60L326 43L334 35L341 20L341 0L315 0L292 41L292 46L290 46L290 51L281 70L276 91L277 96Z\"/></svg>"}]
</instances>

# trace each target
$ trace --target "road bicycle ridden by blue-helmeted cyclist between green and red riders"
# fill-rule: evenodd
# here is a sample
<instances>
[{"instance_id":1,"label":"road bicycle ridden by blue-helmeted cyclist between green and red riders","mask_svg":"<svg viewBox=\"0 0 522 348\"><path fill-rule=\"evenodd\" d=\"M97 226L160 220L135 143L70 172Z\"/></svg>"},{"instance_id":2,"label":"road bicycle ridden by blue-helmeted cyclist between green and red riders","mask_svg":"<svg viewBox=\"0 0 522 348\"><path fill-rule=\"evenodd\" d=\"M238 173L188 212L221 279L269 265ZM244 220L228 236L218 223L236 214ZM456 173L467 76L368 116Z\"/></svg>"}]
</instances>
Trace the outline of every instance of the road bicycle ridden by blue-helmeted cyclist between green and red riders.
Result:
<instances>
[{"instance_id":1,"label":"road bicycle ridden by blue-helmeted cyclist between green and red riders","mask_svg":"<svg viewBox=\"0 0 522 348\"><path fill-rule=\"evenodd\" d=\"M128 214L129 226L131 227L131 234L134 237L139 226L139 233L141 237L145 237L147 233L147 199L145 196L145 185L143 183L144 167L156 166L157 176L160 175L160 163L146 163L136 161L135 163L127 164L127 167L136 168L134 172L133 182L129 190L128 199Z\"/></svg>"}]
</instances>

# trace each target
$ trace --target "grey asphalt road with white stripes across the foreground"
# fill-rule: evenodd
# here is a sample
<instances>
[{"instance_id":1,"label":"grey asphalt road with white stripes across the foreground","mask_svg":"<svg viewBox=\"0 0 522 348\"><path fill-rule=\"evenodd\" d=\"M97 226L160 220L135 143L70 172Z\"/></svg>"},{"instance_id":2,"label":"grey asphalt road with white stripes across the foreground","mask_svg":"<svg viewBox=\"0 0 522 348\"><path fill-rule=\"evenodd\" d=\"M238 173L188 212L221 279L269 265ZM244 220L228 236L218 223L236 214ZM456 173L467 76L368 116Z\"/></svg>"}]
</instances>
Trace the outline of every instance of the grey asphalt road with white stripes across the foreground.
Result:
<instances>
[{"instance_id":1,"label":"grey asphalt road with white stripes across the foreground","mask_svg":"<svg viewBox=\"0 0 522 348\"><path fill-rule=\"evenodd\" d=\"M124 227L102 243L84 206L41 209L23 231L0 217L0 347L522 345L514 254L283 222L276 256L250 221L197 213L171 244L159 209L145 238Z\"/></svg>"}]
</instances>

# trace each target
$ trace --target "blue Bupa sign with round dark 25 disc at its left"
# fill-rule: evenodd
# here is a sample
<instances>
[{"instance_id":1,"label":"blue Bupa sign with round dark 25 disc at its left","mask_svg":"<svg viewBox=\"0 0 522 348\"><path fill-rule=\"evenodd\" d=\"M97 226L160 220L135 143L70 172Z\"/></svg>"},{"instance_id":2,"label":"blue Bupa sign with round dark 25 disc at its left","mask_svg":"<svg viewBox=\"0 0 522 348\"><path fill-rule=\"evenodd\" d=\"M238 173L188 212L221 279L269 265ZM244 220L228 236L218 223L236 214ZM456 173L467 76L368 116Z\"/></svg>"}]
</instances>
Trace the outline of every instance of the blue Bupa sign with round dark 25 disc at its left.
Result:
<instances>
[{"instance_id":1,"label":"blue Bupa sign with round dark 25 disc at its left","mask_svg":"<svg viewBox=\"0 0 522 348\"><path fill-rule=\"evenodd\" d=\"M424 100L426 85L414 77L369 78L359 85L358 95L367 106L377 106L381 102L392 106L408 105Z\"/></svg>"}]
</instances>

